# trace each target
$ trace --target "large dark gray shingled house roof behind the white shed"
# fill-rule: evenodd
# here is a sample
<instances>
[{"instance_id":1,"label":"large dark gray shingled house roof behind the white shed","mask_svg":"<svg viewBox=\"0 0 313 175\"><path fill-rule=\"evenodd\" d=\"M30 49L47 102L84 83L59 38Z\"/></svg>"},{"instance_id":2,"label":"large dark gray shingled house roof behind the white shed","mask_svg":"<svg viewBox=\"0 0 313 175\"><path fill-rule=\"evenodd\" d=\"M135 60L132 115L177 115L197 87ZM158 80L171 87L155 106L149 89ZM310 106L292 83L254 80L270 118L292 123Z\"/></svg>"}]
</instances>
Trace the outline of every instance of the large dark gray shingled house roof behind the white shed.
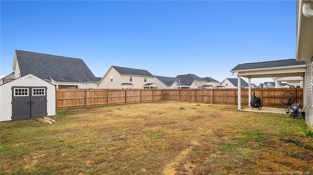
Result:
<instances>
[{"instance_id":1,"label":"large dark gray shingled house roof behind the white shed","mask_svg":"<svg viewBox=\"0 0 313 175\"><path fill-rule=\"evenodd\" d=\"M16 50L15 53L21 76L33 74L42 79L54 78L62 82L97 81L82 59L21 50Z\"/></svg>"}]
</instances>

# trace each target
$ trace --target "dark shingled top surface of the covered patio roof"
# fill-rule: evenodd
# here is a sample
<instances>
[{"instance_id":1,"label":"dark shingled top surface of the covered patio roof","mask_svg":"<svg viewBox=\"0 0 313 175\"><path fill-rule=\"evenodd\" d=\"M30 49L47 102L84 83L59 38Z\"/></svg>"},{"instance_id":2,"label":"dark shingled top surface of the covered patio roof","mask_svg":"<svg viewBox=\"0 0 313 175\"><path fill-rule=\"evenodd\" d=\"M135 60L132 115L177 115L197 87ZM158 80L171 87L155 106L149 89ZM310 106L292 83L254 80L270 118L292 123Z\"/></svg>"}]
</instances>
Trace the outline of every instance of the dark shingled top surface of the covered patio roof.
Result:
<instances>
[{"instance_id":1,"label":"dark shingled top surface of the covered patio roof","mask_svg":"<svg viewBox=\"0 0 313 175\"><path fill-rule=\"evenodd\" d=\"M270 68L270 67L295 66L295 65L303 65L303 64L305 64L305 61L296 61L295 59L253 62L253 63L238 64L231 71L247 70L247 69L261 69L261 68Z\"/></svg>"}]
</instances>

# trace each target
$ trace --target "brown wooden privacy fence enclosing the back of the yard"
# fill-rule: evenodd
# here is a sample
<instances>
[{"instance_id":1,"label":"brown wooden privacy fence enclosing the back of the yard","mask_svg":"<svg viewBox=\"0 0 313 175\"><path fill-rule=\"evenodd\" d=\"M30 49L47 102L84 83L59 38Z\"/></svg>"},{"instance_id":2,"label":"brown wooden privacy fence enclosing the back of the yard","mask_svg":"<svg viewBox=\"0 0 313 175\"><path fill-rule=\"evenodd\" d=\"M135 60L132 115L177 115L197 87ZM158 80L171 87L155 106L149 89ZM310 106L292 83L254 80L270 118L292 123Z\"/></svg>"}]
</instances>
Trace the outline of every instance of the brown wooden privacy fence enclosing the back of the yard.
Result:
<instances>
[{"instance_id":1,"label":"brown wooden privacy fence enclosing the back of the yard","mask_svg":"<svg viewBox=\"0 0 313 175\"><path fill-rule=\"evenodd\" d=\"M251 89L262 99L263 106L284 107L281 98L294 88ZM297 88L297 100L302 99L302 88ZM110 104L140 103L158 100L192 101L210 104L238 104L238 89L57 89L56 108L76 108ZM241 103L248 105L248 89L241 89Z\"/></svg>"}]
</instances>

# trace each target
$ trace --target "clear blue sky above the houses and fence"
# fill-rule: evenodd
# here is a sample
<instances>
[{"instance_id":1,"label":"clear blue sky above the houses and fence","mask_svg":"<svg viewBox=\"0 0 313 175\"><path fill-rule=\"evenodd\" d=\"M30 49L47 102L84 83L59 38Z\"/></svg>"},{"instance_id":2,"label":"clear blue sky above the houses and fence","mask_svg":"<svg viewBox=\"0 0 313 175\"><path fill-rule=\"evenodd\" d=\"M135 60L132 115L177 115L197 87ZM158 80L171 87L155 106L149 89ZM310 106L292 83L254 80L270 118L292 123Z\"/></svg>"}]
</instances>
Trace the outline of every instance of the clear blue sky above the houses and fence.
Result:
<instances>
[{"instance_id":1,"label":"clear blue sky above the houses and fence","mask_svg":"<svg viewBox=\"0 0 313 175\"><path fill-rule=\"evenodd\" d=\"M237 78L237 64L295 58L296 1L0 1L0 75L15 50L153 75ZM267 79L251 79L259 84Z\"/></svg>"}]
</instances>

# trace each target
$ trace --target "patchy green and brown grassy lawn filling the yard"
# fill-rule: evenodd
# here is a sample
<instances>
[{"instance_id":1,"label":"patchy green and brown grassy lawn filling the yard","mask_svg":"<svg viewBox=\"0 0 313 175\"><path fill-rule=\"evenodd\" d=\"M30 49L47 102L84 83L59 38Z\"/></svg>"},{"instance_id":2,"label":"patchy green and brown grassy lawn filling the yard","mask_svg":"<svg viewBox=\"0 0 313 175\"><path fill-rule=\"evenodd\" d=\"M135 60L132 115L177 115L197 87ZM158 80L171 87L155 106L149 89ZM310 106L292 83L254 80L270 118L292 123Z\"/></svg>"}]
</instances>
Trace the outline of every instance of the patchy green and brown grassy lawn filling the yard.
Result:
<instances>
[{"instance_id":1,"label":"patchy green and brown grassy lawn filling the yard","mask_svg":"<svg viewBox=\"0 0 313 175\"><path fill-rule=\"evenodd\" d=\"M162 101L0 122L0 174L313 174L304 119Z\"/></svg>"}]
</instances>

